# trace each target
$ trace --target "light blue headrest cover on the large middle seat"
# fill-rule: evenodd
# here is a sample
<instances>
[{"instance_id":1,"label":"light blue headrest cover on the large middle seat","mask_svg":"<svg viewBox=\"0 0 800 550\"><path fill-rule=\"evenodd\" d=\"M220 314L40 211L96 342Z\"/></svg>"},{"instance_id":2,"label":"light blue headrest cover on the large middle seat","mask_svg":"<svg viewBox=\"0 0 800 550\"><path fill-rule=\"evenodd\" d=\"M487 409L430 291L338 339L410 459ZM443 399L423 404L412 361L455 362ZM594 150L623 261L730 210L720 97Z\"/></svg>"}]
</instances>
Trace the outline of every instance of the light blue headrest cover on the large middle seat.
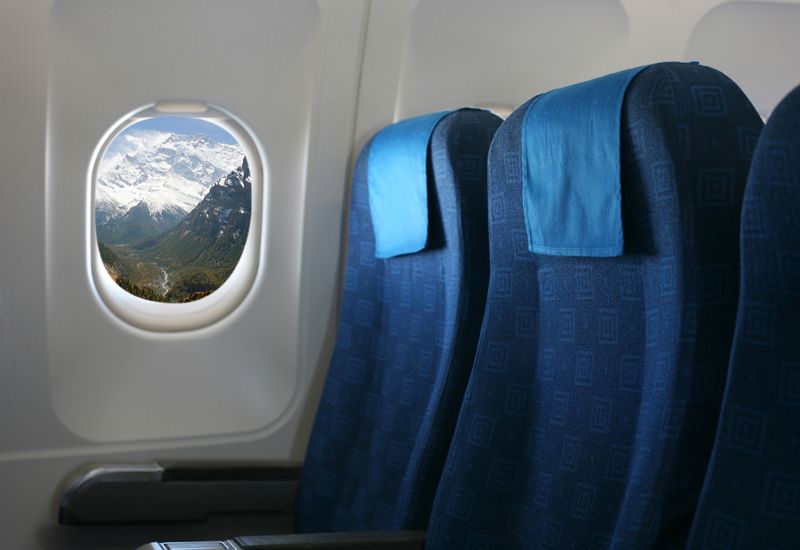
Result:
<instances>
[{"instance_id":1,"label":"light blue headrest cover on the large middle seat","mask_svg":"<svg viewBox=\"0 0 800 550\"><path fill-rule=\"evenodd\" d=\"M648 66L559 88L528 106L522 200L531 252L622 255L622 102Z\"/></svg>"}]
</instances>

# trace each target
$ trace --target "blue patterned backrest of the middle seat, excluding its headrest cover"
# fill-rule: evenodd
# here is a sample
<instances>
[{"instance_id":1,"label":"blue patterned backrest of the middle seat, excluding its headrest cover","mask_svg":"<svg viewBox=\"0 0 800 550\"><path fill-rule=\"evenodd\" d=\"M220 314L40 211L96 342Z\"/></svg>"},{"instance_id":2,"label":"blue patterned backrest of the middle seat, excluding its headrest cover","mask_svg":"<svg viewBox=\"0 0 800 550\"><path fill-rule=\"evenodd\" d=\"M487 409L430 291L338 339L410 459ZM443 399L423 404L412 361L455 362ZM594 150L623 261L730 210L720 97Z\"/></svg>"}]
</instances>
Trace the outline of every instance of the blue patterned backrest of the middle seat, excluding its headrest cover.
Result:
<instances>
[{"instance_id":1,"label":"blue patterned backrest of the middle seat, excluding its headrest cover","mask_svg":"<svg viewBox=\"0 0 800 550\"><path fill-rule=\"evenodd\" d=\"M489 154L486 313L426 548L685 542L733 334L761 120L713 69L642 70L618 134L624 254L550 256L529 252L523 212L534 101Z\"/></svg>"}]
</instances>

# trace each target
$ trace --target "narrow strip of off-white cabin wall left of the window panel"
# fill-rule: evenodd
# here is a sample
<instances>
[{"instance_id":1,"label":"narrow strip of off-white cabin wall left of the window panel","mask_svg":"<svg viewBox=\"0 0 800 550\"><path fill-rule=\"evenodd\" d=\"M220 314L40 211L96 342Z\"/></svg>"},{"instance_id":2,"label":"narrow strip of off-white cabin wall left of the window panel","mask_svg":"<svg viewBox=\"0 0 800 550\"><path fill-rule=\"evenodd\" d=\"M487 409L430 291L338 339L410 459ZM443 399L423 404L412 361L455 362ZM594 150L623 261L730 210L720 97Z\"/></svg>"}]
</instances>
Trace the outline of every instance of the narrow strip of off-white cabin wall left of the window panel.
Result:
<instances>
[{"instance_id":1,"label":"narrow strip of off-white cabin wall left of the window panel","mask_svg":"<svg viewBox=\"0 0 800 550\"><path fill-rule=\"evenodd\" d=\"M50 6L47 0L0 4L0 448L4 450L19 449L32 425L53 418L47 371L42 369Z\"/></svg>"}]
</instances>

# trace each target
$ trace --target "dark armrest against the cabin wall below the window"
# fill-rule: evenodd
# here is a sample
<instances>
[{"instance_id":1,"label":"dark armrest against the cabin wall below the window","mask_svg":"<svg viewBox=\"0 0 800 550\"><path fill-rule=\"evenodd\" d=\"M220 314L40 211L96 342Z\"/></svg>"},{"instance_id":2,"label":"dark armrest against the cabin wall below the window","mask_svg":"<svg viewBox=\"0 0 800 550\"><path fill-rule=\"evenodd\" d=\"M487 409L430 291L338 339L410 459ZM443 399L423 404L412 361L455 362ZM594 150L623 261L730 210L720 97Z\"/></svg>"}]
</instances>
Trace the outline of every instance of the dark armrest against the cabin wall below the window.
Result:
<instances>
[{"instance_id":1,"label":"dark armrest against the cabin wall below the window","mask_svg":"<svg viewBox=\"0 0 800 550\"><path fill-rule=\"evenodd\" d=\"M291 514L300 468L237 464L97 465L74 477L61 525L202 522L211 514Z\"/></svg>"}]
</instances>

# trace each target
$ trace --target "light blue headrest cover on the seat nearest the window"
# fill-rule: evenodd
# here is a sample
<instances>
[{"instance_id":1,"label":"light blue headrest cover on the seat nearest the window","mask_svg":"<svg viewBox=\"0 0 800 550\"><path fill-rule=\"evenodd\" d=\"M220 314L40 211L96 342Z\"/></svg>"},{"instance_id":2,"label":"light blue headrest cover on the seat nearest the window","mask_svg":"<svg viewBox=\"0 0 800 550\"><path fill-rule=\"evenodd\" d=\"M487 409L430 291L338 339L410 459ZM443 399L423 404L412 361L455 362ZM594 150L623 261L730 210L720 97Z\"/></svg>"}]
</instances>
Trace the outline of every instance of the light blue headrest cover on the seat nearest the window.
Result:
<instances>
[{"instance_id":1,"label":"light blue headrest cover on the seat nearest the window","mask_svg":"<svg viewBox=\"0 0 800 550\"><path fill-rule=\"evenodd\" d=\"M367 188L375 257L425 248L428 241L428 143L453 111L403 120L381 130L369 148Z\"/></svg>"}]
</instances>

